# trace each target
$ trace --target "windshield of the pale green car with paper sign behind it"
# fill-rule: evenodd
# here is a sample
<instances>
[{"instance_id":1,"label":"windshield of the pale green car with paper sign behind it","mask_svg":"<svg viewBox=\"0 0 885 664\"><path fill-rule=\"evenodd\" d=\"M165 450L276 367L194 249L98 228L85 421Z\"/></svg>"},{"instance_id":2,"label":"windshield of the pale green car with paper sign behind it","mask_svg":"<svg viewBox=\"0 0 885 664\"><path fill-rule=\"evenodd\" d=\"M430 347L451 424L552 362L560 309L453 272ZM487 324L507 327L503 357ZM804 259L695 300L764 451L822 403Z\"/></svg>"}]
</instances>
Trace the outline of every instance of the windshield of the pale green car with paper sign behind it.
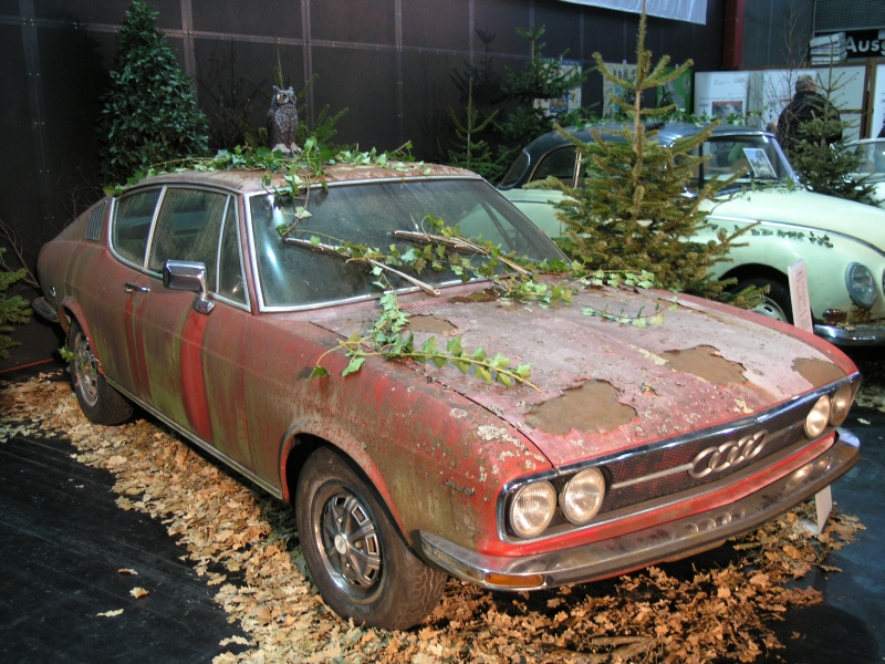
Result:
<instances>
[{"instance_id":1,"label":"windshield of the pale green car with paper sign behind it","mask_svg":"<svg viewBox=\"0 0 885 664\"><path fill-rule=\"evenodd\" d=\"M795 181L790 163L771 136L714 136L701 144L701 154L709 159L696 167L697 186L712 178L727 179L743 172L726 189L731 191L749 184L777 185Z\"/></svg>"}]
</instances>

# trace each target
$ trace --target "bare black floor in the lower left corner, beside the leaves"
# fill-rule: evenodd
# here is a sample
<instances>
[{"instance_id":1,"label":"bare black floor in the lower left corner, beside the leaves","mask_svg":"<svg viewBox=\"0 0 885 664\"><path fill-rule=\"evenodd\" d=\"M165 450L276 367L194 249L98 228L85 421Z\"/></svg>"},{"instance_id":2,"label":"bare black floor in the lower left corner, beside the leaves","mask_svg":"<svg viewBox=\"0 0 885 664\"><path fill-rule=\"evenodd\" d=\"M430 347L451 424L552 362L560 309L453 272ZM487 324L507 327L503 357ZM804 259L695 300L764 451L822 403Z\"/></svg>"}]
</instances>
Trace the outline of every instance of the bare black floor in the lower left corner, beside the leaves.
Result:
<instances>
[{"instance_id":1,"label":"bare black floor in the lower left corner, beside the leaves","mask_svg":"<svg viewBox=\"0 0 885 664\"><path fill-rule=\"evenodd\" d=\"M0 444L0 662L204 663L229 651L219 642L242 632L163 523L119 509L111 474L75 452Z\"/></svg>"}]
</instances>

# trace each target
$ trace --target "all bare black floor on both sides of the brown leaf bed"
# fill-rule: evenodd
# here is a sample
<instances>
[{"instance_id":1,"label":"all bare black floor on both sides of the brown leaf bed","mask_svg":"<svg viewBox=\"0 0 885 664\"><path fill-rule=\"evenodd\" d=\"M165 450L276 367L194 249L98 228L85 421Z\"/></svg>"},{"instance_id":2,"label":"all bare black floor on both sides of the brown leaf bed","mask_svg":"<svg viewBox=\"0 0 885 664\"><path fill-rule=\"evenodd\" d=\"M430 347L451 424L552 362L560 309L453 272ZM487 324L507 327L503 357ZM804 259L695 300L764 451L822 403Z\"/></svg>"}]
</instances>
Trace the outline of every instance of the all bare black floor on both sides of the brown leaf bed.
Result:
<instances>
[{"instance_id":1,"label":"all bare black floor on both sides of the brown leaf bed","mask_svg":"<svg viewBox=\"0 0 885 664\"><path fill-rule=\"evenodd\" d=\"M25 328L17 332L24 345L0 362L0 380L58 366L55 332ZM858 364L863 371L863 357ZM866 530L831 554L841 572L803 579L824 602L788 612L773 625L787 647L757 662L885 662L885 414L855 408L846 428L863 458L833 499ZM111 475L73 453L63 439L0 443L0 662L210 662L242 650L219 645L242 633L163 525L116 507ZM150 594L136 600L135 587Z\"/></svg>"}]
</instances>

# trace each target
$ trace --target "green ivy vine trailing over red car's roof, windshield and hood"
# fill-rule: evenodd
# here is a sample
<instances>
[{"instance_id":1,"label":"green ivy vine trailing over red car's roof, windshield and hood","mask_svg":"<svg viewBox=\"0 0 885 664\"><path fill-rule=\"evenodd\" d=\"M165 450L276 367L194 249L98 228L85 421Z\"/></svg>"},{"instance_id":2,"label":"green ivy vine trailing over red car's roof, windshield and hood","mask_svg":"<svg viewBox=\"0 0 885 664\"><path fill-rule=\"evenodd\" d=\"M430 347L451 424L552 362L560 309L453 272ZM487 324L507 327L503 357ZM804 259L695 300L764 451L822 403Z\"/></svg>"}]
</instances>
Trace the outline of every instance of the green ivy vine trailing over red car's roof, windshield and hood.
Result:
<instances>
[{"instance_id":1,"label":"green ivy vine trailing over red car's roof, windshield and hood","mask_svg":"<svg viewBox=\"0 0 885 664\"><path fill-rule=\"evenodd\" d=\"M268 193L292 200L291 221L277 229L283 242L334 255L346 261L365 263L375 279L374 284L383 293L379 298L381 312L372 328L364 334L357 333L346 340L340 340L336 347L324 352L317 359L310 374L311 378L327 376L329 370L323 366L323 360L330 353L343 351L348 357L348 363L341 372L342 376L358 372L367 357L382 356L386 360L409 359L419 363L430 362L440 369L451 365L462 374L472 373L475 377L489 384L498 383L508 387L521 384L538 390L538 386L530 381L529 364L513 366L509 357L500 353L489 354L481 347L468 352L461 346L460 336L449 339L445 347L440 347L436 336L430 336L417 347L415 338L408 330L408 313L399 307L396 290L388 276L395 274L431 295L439 295L439 290L400 268L408 268L418 276L427 269L435 271L449 269L464 282L485 279L490 283L487 290L492 297L532 303L541 308L571 304L572 294L579 288L658 286L654 276L646 271L634 273L589 270L580 262L554 260L534 263L520 259L514 252L502 252L500 247L491 242L468 239L461 235L460 228L450 227L444 219L434 216L425 218L423 231L397 231L396 236L402 240L417 245L405 251L392 245L388 251L384 252L378 248L365 247L348 240L320 237L315 231L308 238L303 237L299 224L311 216L309 209L311 188L316 184L323 185L322 176L326 165L377 166L403 172L428 168L423 163L412 159L408 154L410 148L410 143L407 143L393 153L378 153L375 149L333 152L311 136L304 142L302 152L296 155L285 155L267 147L222 149L215 157L178 159L155 165L138 173L125 185L110 187L106 190L110 195L119 195L126 187L145 177L187 169L263 170L262 184ZM274 177L278 175L282 175L284 184L274 186ZM482 260L475 263L476 257L481 257ZM563 279L559 283L543 283L538 280L538 274L542 272L561 274ZM582 313L638 326L662 322L659 311L652 317L643 317L641 312L639 315L632 318L617 317L592 308L584 308Z\"/></svg>"}]
</instances>

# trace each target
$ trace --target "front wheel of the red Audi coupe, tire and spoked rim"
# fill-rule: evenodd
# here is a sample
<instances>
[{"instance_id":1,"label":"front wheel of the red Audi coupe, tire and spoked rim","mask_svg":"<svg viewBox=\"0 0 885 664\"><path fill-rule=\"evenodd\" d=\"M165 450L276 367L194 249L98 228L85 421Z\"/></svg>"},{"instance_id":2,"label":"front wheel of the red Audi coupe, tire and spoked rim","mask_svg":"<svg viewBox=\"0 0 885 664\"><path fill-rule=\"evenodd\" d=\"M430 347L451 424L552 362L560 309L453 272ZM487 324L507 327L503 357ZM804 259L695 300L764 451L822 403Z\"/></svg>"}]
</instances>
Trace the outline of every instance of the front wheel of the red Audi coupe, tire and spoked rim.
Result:
<instances>
[{"instance_id":1,"label":"front wheel of the red Audi coupe, tire and spoked rim","mask_svg":"<svg viewBox=\"0 0 885 664\"><path fill-rule=\"evenodd\" d=\"M304 464L295 519L311 578L345 620L405 630L439 603L446 573L412 552L375 491L331 449Z\"/></svg>"}]
</instances>

